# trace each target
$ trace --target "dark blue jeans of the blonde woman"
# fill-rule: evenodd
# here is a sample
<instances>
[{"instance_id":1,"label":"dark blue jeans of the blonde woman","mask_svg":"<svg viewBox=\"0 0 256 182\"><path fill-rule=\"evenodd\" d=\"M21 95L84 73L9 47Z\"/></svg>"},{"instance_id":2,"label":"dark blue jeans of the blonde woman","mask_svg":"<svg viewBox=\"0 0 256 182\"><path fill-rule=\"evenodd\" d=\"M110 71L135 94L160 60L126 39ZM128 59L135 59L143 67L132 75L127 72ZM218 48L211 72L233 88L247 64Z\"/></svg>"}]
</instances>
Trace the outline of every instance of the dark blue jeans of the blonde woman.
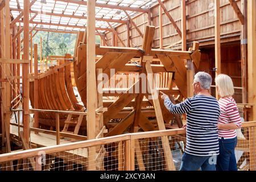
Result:
<instances>
[{"instance_id":1,"label":"dark blue jeans of the blonde woman","mask_svg":"<svg viewBox=\"0 0 256 182\"><path fill-rule=\"evenodd\" d=\"M237 146L237 137L232 139L218 139L220 155L217 158L217 171L237 171L237 161L234 149Z\"/></svg>"}]
</instances>

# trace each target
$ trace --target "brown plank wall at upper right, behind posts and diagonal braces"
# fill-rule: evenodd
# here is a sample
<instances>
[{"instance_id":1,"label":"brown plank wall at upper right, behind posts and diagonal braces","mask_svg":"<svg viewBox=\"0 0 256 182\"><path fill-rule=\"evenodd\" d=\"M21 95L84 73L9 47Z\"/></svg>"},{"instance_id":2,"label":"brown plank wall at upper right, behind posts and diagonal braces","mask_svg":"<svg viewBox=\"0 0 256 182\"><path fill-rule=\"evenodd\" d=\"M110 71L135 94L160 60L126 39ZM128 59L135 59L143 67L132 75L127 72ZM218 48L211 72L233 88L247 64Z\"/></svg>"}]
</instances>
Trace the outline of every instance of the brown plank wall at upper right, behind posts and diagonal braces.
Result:
<instances>
[{"instance_id":1,"label":"brown plank wall at upper right, behind posts and diagonal braces","mask_svg":"<svg viewBox=\"0 0 256 182\"><path fill-rule=\"evenodd\" d=\"M238 7L241 6L242 0L237 0ZM214 0L189 0L186 3L187 9L187 42L194 40L199 41L200 45L208 45L214 43ZM164 1L168 12L175 20L178 27L181 30L181 7L180 0L167 0ZM221 36L222 42L230 42L232 40L240 40L241 23L239 22L236 13L232 6L230 6L229 0L220 0L220 12L221 12ZM240 7L241 8L241 7ZM170 20L163 12L163 47L170 44L177 43L181 40L180 36L175 31ZM147 14L140 14L133 18L138 28L144 32L144 28L147 25ZM151 24L156 27L153 47L159 48L159 5L151 8ZM142 37L133 25L130 25L130 40L131 47L142 46ZM127 26L122 24L115 28L119 37L123 40L123 43L127 45ZM113 46L112 32L106 33L106 39L108 39L108 45ZM117 42L116 46L122 46ZM175 48L175 47L174 47ZM179 47L176 47L180 48Z\"/></svg>"}]
</instances>

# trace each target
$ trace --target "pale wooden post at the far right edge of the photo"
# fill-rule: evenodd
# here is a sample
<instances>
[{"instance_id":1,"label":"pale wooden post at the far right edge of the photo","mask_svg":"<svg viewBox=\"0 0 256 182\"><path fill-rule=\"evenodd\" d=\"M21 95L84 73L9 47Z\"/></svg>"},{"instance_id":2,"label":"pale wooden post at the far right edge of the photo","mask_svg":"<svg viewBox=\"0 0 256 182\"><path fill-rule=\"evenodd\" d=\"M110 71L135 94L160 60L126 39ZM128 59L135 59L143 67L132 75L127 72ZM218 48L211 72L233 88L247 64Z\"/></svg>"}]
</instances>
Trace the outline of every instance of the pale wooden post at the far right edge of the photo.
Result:
<instances>
[{"instance_id":1,"label":"pale wooden post at the far right edge of the photo","mask_svg":"<svg viewBox=\"0 0 256 182\"><path fill-rule=\"evenodd\" d=\"M247 1L248 36L248 101L253 106L253 121L256 119L256 1Z\"/></svg>"}]
</instances>

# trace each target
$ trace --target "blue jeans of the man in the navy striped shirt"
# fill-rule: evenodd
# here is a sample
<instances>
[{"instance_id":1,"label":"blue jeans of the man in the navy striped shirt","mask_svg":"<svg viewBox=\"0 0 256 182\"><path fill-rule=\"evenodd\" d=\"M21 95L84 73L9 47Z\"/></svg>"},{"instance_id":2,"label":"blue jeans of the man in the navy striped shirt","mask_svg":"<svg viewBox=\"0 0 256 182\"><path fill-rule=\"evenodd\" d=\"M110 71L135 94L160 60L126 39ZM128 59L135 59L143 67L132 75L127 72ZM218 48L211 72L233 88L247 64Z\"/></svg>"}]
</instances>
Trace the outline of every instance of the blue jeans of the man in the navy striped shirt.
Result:
<instances>
[{"instance_id":1,"label":"blue jeans of the man in the navy striped shirt","mask_svg":"<svg viewBox=\"0 0 256 182\"><path fill-rule=\"evenodd\" d=\"M216 163L212 159L217 156L197 156L184 152L181 160L180 171L216 171ZM215 159L216 160L216 159Z\"/></svg>"}]
</instances>

